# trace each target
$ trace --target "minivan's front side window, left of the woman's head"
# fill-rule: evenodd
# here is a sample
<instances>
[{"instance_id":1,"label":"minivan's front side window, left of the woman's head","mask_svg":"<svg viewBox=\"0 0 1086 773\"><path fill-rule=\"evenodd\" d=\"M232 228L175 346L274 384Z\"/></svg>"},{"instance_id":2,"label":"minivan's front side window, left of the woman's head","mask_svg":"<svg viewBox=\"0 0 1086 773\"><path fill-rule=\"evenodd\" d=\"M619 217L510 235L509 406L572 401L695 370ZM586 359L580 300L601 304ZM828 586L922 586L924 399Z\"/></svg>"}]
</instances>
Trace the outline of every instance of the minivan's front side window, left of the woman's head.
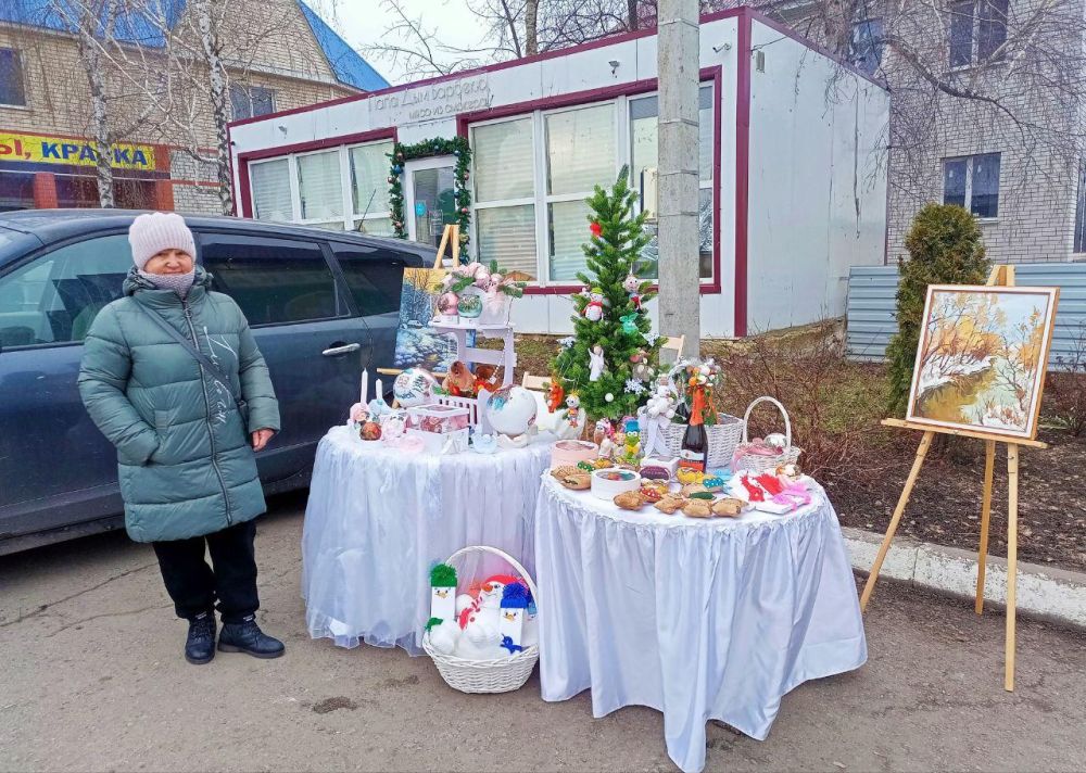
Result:
<instances>
[{"instance_id":1,"label":"minivan's front side window, left of the woman's head","mask_svg":"<svg viewBox=\"0 0 1086 773\"><path fill-rule=\"evenodd\" d=\"M66 244L0 277L0 346L83 341L121 297L131 266L128 237L116 233Z\"/></svg>"}]
</instances>

